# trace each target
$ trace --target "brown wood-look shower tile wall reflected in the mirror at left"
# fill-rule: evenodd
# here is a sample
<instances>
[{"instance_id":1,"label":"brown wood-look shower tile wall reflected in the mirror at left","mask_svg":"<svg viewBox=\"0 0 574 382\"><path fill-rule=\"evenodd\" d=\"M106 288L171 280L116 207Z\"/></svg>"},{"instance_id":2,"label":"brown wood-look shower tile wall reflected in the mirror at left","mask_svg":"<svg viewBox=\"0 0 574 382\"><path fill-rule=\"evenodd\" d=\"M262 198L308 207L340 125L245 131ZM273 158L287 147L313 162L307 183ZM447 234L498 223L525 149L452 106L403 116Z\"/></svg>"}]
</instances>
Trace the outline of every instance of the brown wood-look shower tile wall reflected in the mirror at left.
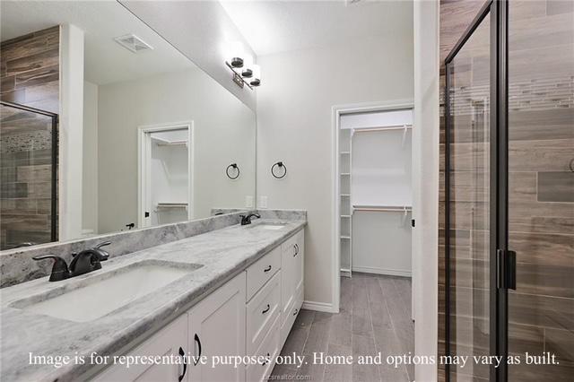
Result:
<instances>
[{"instance_id":1,"label":"brown wood-look shower tile wall reflected in the mirror at left","mask_svg":"<svg viewBox=\"0 0 574 382\"><path fill-rule=\"evenodd\" d=\"M0 97L59 109L59 27L3 41ZM52 126L49 117L2 106L0 242L50 241Z\"/></svg>"}]
</instances>

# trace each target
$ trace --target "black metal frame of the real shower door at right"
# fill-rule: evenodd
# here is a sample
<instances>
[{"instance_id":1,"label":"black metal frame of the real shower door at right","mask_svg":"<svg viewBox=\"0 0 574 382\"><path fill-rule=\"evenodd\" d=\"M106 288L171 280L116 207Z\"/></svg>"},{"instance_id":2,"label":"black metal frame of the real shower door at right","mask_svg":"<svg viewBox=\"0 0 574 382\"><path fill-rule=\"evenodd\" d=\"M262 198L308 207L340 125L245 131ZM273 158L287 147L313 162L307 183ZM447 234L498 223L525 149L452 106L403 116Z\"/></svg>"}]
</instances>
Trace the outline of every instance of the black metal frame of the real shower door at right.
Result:
<instances>
[{"instance_id":1,"label":"black metal frame of the real shower door at right","mask_svg":"<svg viewBox=\"0 0 574 382\"><path fill-rule=\"evenodd\" d=\"M451 63L483 20L490 16L491 119L490 119L490 355L502 356L499 368L490 368L490 380L508 380L508 278L515 267L509 261L508 239L508 0L487 0L445 59L445 353L450 354L450 74ZM445 365L446 380L450 367Z\"/></svg>"}]
</instances>

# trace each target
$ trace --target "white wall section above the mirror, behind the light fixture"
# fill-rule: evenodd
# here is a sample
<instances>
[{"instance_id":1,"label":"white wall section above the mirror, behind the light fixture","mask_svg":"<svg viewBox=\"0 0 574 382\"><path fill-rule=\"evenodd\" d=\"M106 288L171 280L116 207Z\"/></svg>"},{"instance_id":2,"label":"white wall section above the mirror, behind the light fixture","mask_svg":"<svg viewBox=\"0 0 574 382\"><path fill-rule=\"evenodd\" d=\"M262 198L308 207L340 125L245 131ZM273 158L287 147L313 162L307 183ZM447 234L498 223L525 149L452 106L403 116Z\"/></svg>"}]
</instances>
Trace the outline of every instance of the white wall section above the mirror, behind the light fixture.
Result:
<instances>
[{"instance_id":1,"label":"white wall section above the mirror, behind the light fixture","mask_svg":"<svg viewBox=\"0 0 574 382\"><path fill-rule=\"evenodd\" d=\"M231 81L230 69L225 65L227 43L239 40L248 53L256 55L222 4L218 1L133 0L120 3L255 111L256 91L241 89Z\"/></svg>"}]
</instances>

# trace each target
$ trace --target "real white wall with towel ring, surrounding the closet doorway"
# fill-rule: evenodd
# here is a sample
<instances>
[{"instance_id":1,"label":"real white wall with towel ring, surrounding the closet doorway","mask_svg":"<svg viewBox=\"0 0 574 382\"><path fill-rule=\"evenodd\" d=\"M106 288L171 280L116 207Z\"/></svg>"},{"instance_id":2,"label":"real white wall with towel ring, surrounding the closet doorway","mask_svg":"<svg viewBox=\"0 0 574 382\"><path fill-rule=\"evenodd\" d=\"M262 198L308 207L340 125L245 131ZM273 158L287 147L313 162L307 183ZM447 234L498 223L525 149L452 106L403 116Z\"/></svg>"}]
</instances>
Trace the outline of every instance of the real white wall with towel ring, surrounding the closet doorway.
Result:
<instances>
[{"instance_id":1,"label":"real white wall with towel ring, surrounding the closet doorway","mask_svg":"<svg viewBox=\"0 0 574 382\"><path fill-rule=\"evenodd\" d=\"M413 20L385 38L342 41L326 48L259 56L265 84L257 89L257 195L269 208L308 210L305 300L333 303L331 211L334 105L413 97ZM284 161L288 175L269 168Z\"/></svg>"}]
</instances>

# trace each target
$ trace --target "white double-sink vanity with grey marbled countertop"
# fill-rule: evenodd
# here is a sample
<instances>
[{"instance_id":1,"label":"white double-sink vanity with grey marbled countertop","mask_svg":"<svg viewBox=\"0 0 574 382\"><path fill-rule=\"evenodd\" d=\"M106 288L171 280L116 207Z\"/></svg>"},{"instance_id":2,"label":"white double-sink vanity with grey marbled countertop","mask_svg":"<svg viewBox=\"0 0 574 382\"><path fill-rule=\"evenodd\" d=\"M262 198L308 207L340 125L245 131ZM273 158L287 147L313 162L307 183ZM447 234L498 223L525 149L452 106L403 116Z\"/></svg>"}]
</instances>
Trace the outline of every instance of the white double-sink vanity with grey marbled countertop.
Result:
<instances>
[{"instance_id":1,"label":"white double-sink vanity with grey marbled countertop","mask_svg":"<svg viewBox=\"0 0 574 382\"><path fill-rule=\"evenodd\" d=\"M2 342L0 378L265 380L303 302L306 224L260 219L117 256L62 282L4 288L0 314L11 335ZM93 365L94 352L109 359ZM30 354L85 363L33 365ZM113 360L170 355L177 361L166 365ZM226 355L261 358L212 367L212 356Z\"/></svg>"}]
</instances>

